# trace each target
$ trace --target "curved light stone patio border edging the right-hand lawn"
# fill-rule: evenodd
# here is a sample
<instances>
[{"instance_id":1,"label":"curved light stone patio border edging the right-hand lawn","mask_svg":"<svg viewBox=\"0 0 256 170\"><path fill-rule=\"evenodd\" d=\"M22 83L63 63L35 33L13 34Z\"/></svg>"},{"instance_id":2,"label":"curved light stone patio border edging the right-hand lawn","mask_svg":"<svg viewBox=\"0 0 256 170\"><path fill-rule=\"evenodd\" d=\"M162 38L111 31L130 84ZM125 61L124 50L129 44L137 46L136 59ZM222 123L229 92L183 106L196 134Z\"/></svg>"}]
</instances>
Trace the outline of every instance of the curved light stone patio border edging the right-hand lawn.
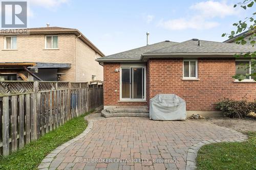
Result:
<instances>
[{"instance_id":1,"label":"curved light stone patio border edging the right-hand lawn","mask_svg":"<svg viewBox=\"0 0 256 170\"><path fill-rule=\"evenodd\" d=\"M204 140L204 141L197 142L196 144L192 145L188 149L187 157L186 157L186 170L194 170L197 168L197 161L196 161L197 153L203 145L210 144L210 143L217 143L217 142L243 142L246 139L248 139L247 135L245 135L241 132L238 132L233 129L225 128L225 127L221 127L221 128L237 134L239 139L235 139L235 140L226 140L226 139L225 140Z\"/></svg>"}]
</instances>

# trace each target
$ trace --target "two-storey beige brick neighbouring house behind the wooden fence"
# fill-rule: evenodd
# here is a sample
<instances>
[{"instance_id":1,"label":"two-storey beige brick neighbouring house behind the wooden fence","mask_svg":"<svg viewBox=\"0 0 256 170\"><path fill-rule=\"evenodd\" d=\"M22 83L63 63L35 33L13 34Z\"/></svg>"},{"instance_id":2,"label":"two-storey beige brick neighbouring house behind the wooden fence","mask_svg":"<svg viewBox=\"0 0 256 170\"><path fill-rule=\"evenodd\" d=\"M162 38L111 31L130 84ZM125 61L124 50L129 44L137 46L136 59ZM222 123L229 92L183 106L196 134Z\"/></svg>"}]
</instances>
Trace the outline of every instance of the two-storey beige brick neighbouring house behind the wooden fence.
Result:
<instances>
[{"instance_id":1,"label":"two-storey beige brick neighbouring house behind the wooden fence","mask_svg":"<svg viewBox=\"0 0 256 170\"><path fill-rule=\"evenodd\" d=\"M57 75L61 75L60 81L103 80L103 67L95 59L104 54L77 29L45 27L28 31L28 35L0 35L0 80L25 76L29 80L39 77L56 81Z\"/></svg>"}]
</instances>

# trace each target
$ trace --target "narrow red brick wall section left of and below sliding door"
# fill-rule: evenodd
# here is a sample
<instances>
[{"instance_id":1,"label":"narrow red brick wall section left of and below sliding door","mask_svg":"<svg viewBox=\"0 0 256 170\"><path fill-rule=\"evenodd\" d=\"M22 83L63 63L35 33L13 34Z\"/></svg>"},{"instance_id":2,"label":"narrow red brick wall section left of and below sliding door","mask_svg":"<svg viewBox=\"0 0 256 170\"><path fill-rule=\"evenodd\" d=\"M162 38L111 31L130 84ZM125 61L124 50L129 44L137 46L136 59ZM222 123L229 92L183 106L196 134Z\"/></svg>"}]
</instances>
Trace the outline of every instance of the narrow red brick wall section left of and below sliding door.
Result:
<instances>
[{"instance_id":1,"label":"narrow red brick wall section left of and below sliding door","mask_svg":"<svg viewBox=\"0 0 256 170\"><path fill-rule=\"evenodd\" d=\"M104 63L104 106L140 106L147 103L140 102L118 102L120 100L120 72L115 72L115 68L120 68L119 63ZM115 92L117 90L117 92Z\"/></svg>"}]
</instances>

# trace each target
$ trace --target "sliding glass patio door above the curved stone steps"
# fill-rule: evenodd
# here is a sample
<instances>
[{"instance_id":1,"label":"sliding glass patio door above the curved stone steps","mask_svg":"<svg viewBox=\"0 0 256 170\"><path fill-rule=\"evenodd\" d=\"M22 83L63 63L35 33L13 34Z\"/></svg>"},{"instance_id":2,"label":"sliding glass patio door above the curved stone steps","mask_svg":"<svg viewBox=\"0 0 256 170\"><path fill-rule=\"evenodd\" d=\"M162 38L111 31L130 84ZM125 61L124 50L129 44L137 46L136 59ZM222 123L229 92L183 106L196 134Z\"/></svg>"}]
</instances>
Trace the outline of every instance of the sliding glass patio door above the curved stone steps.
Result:
<instances>
[{"instance_id":1,"label":"sliding glass patio door above the curved stone steps","mask_svg":"<svg viewBox=\"0 0 256 170\"><path fill-rule=\"evenodd\" d=\"M120 99L145 100L145 67L121 67Z\"/></svg>"}]
</instances>

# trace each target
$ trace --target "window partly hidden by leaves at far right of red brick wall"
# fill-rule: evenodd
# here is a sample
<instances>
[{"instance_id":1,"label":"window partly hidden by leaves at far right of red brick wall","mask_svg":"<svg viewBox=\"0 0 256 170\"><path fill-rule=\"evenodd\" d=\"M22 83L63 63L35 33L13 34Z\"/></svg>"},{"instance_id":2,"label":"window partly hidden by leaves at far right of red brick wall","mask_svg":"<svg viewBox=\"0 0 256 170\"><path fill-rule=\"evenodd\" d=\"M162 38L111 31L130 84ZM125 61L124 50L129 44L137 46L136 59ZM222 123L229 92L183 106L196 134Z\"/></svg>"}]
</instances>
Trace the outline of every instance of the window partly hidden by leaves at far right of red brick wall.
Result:
<instances>
[{"instance_id":1,"label":"window partly hidden by leaves at far right of red brick wall","mask_svg":"<svg viewBox=\"0 0 256 170\"><path fill-rule=\"evenodd\" d=\"M250 75L256 72L256 70L253 70L251 66L250 60L238 60L236 61L236 75ZM253 80L254 77L252 76L246 76L245 79L247 80Z\"/></svg>"}]
</instances>

